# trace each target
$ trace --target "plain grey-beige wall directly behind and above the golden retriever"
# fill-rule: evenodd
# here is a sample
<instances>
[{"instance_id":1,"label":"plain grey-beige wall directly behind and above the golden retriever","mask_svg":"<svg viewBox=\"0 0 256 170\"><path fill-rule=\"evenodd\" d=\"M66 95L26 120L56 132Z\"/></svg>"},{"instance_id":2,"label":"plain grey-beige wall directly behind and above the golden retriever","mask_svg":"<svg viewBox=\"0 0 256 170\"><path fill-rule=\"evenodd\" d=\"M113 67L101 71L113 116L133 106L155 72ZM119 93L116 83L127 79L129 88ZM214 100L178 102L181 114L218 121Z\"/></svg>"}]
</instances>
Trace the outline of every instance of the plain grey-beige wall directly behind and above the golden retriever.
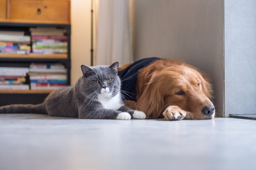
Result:
<instances>
[{"instance_id":1,"label":"plain grey-beige wall directly behind and above the golden retriever","mask_svg":"<svg viewBox=\"0 0 256 170\"><path fill-rule=\"evenodd\" d=\"M134 56L177 58L208 74L223 116L223 1L133 1Z\"/></svg>"}]
</instances>

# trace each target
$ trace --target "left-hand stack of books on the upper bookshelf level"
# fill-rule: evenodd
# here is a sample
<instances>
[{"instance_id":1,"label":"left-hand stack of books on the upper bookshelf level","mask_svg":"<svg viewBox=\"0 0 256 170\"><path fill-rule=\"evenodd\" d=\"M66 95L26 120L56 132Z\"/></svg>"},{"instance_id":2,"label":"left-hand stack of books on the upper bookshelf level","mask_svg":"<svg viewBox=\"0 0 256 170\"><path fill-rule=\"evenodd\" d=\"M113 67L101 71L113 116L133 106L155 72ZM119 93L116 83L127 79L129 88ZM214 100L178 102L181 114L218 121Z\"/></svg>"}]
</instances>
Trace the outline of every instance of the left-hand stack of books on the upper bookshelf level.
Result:
<instances>
[{"instance_id":1,"label":"left-hand stack of books on the upper bookshelf level","mask_svg":"<svg viewBox=\"0 0 256 170\"><path fill-rule=\"evenodd\" d=\"M0 53L28 54L30 36L22 31L0 31Z\"/></svg>"}]
</instances>

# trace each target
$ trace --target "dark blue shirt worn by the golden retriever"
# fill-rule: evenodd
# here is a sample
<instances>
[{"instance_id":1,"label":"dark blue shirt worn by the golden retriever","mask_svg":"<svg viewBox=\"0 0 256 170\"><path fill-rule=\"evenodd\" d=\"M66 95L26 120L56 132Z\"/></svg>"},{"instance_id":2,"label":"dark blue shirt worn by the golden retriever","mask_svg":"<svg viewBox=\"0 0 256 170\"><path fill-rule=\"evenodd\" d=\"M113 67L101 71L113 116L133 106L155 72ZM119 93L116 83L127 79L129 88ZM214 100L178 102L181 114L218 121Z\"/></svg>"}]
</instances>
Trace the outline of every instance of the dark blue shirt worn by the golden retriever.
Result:
<instances>
[{"instance_id":1,"label":"dark blue shirt worn by the golden retriever","mask_svg":"<svg viewBox=\"0 0 256 170\"><path fill-rule=\"evenodd\" d=\"M155 62L156 60L160 60L160 58L150 57L138 60L137 62L130 64L128 67L126 67L126 69L123 69L120 72L118 72L118 76L120 77L122 84L121 94L123 95L123 99L136 101L136 82L138 71L140 69L143 69L144 67L147 67L149 64Z\"/></svg>"}]
</instances>

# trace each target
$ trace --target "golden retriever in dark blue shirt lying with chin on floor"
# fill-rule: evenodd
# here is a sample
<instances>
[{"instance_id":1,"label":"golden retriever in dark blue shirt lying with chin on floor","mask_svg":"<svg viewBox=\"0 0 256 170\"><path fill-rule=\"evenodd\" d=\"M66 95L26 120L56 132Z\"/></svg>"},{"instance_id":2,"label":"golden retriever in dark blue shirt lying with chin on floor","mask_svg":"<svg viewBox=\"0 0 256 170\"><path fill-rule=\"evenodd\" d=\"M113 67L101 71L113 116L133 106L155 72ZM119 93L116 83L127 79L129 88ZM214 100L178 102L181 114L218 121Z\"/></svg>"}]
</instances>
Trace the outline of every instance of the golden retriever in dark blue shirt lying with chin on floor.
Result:
<instances>
[{"instance_id":1,"label":"golden retriever in dark blue shirt lying with chin on floor","mask_svg":"<svg viewBox=\"0 0 256 170\"><path fill-rule=\"evenodd\" d=\"M143 61L144 65L140 66ZM126 104L143 111L147 118L214 118L215 108L211 101L213 90L209 79L189 64L178 60L147 58L135 62L135 67L133 64L121 67L119 76L123 81L122 90L135 95L135 98L126 98L134 99L134 102L126 101ZM130 84L130 77L136 78L134 84ZM129 91L132 88L134 91Z\"/></svg>"}]
</instances>

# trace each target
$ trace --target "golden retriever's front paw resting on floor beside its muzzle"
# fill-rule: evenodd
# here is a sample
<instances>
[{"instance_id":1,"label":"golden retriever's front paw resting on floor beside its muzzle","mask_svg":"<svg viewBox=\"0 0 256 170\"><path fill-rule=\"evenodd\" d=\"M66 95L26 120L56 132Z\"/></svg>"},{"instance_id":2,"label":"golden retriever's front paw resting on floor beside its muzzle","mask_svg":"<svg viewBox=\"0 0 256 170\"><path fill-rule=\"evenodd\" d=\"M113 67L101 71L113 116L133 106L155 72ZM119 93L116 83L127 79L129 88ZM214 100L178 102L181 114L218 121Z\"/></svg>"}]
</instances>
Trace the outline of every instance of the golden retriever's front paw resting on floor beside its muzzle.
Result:
<instances>
[{"instance_id":1,"label":"golden retriever's front paw resting on floor beside its muzzle","mask_svg":"<svg viewBox=\"0 0 256 170\"><path fill-rule=\"evenodd\" d=\"M187 113L179 106L169 106L162 114L165 116L165 120L182 120Z\"/></svg>"}]
</instances>

